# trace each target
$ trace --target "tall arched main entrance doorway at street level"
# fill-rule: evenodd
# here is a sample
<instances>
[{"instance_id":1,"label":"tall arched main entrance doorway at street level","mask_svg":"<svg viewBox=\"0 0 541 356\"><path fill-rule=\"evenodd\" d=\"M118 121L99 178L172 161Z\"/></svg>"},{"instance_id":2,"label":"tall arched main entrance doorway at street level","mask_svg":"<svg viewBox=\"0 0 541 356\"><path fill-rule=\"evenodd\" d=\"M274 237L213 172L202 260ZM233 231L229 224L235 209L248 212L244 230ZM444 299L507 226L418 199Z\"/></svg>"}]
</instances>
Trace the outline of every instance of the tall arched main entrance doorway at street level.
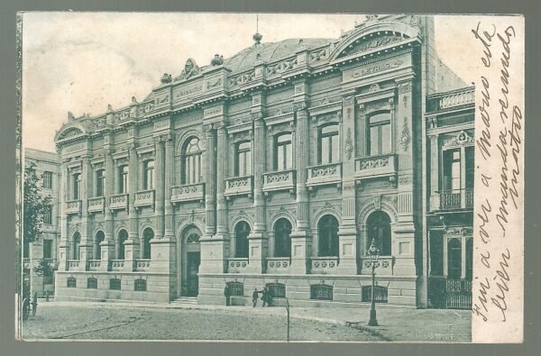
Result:
<instances>
[{"instance_id":1,"label":"tall arched main entrance doorway at street level","mask_svg":"<svg viewBox=\"0 0 541 356\"><path fill-rule=\"evenodd\" d=\"M201 264L201 232L190 226L180 236L179 253L180 296L197 297L199 294L199 265Z\"/></svg>"}]
</instances>

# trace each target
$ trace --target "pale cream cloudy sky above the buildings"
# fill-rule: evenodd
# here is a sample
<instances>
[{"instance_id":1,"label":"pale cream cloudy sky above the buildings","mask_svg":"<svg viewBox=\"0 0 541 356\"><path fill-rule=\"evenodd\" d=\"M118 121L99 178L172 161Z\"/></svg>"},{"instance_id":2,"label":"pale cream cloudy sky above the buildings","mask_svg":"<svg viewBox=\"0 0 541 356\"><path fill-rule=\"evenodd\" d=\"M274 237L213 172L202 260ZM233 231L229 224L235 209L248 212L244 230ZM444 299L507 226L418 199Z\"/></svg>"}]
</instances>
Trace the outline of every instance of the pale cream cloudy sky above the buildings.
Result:
<instances>
[{"instance_id":1,"label":"pale cream cloudy sky above the buildings","mask_svg":"<svg viewBox=\"0 0 541 356\"><path fill-rule=\"evenodd\" d=\"M362 14L260 14L263 42L337 39ZM436 50L464 82L475 81L473 16L436 16ZM97 115L108 104L139 101L178 76L188 58L200 67L216 53L229 58L252 46L256 14L25 13L23 145L54 151L67 113ZM478 55L478 54L476 54Z\"/></svg>"}]
</instances>

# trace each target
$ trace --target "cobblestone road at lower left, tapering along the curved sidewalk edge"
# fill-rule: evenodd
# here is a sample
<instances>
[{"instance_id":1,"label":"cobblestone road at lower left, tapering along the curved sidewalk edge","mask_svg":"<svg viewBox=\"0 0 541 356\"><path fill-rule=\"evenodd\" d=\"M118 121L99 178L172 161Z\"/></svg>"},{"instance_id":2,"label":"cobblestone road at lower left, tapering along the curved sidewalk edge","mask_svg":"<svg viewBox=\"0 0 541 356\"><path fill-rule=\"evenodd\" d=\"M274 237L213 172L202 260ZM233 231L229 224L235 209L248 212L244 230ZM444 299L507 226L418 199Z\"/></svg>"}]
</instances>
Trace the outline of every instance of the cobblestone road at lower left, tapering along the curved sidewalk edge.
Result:
<instances>
[{"instance_id":1,"label":"cobblestone road at lower left, tapering along the curved sidewalk edge","mask_svg":"<svg viewBox=\"0 0 541 356\"><path fill-rule=\"evenodd\" d=\"M129 306L55 306L42 303L23 322L23 339L144 339L285 341L285 310L254 315L243 310L157 309ZM291 341L381 341L338 324L291 318Z\"/></svg>"}]
</instances>

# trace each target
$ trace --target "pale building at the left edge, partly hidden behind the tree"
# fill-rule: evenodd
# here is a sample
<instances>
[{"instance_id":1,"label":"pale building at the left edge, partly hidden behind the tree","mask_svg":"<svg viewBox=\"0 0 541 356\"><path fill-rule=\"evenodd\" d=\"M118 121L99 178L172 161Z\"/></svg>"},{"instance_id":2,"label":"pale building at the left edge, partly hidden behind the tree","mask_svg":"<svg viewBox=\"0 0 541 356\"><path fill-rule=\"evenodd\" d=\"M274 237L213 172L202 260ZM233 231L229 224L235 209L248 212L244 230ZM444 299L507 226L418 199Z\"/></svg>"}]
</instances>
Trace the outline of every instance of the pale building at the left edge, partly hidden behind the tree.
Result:
<instances>
[{"instance_id":1,"label":"pale building at the left edge, partly hidden behind the tree","mask_svg":"<svg viewBox=\"0 0 541 356\"><path fill-rule=\"evenodd\" d=\"M50 207L42 216L41 236L23 246L24 280L30 285L32 296L42 296L45 291L54 293L54 275L37 275L34 271L41 260L56 266L60 245L60 162L53 152L34 149L24 150L25 164L35 164L36 175L41 178L41 195L50 196Z\"/></svg>"}]
</instances>

